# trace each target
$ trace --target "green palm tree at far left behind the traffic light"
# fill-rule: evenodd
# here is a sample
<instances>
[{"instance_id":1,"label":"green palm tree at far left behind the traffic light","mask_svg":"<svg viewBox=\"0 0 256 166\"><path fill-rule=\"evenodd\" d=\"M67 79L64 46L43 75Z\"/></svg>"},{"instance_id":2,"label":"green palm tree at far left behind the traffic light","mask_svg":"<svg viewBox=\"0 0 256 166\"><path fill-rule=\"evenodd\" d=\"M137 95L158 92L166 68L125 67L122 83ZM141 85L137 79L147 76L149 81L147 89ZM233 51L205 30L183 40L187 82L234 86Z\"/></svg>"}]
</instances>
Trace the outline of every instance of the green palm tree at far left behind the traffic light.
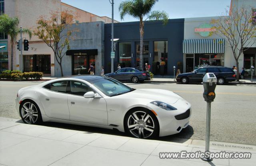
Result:
<instances>
[{"instance_id":1,"label":"green palm tree at far left behind the traffic light","mask_svg":"<svg viewBox=\"0 0 256 166\"><path fill-rule=\"evenodd\" d=\"M22 28L23 34L32 37L32 32L27 28ZM20 34L19 18L14 16L10 18L7 14L0 15L0 32L7 33L11 37L11 70L13 70L13 46L18 34Z\"/></svg>"}]
</instances>

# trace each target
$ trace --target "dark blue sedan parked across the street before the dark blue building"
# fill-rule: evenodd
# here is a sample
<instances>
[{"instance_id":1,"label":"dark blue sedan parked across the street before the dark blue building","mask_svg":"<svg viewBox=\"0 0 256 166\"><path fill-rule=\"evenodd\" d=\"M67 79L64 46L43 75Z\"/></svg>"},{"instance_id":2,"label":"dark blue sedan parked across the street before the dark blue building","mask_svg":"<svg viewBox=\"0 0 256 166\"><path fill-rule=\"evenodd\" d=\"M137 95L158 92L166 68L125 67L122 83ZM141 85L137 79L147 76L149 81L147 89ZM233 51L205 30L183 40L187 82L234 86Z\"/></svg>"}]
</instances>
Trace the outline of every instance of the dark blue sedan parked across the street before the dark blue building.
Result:
<instances>
[{"instance_id":1,"label":"dark blue sedan parked across the street before the dark blue building","mask_svg":"<svg viewBox=\"0 0 256 166\"><path fill-rule=\"evenodd\" d=\"M116 72L105 74L104 76L108 76L114 78L118 81L132 81L133 83L143 82L144 80L150 80L150 75L148 72L138 70L136 68L121 68Z\"/></svg>"}]
</instances>

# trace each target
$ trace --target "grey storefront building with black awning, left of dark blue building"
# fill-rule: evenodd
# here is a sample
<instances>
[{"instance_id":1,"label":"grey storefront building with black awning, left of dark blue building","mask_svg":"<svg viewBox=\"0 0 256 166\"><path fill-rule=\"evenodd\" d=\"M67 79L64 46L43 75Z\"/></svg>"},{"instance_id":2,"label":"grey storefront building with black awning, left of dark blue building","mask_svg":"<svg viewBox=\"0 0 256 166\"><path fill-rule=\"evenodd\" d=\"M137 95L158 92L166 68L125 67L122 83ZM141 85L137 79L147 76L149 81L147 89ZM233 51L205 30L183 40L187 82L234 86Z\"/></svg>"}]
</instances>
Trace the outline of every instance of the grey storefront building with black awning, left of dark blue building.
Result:
<instances>
[{"instance_id":1,"label":"grey storefront building with black awning, left of dark blue building","mask_svg":"<svg viewBox=\"0 0 256 166\"><path fill-rule=\"evenodd\" d=\"M101 67L104 66L104 22L72 24L71 31L70 50L67 47L63 49L64 76L88 74L90 63L94 66L94 73L99 75ZM67 29L63 33L67 33ZM55 76L61 76L60 65L56 59L54 72Z\"/></svg>"}]
</instances>

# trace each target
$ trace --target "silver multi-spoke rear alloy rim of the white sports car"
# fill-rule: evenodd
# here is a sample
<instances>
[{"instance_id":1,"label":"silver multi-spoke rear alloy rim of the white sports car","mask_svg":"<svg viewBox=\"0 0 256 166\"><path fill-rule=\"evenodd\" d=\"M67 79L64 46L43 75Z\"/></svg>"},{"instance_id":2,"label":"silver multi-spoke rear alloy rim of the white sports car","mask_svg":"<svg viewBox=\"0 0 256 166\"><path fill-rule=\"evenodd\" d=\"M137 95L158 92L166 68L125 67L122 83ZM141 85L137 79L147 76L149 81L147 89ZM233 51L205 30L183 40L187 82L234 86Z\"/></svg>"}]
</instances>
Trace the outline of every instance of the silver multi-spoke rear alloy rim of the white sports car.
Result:
<instances>
[{"instance_id":1,"label":"silver multi-spoke rear alloy rim of the white sports car","mask_svg":"<svg viewBox=\"0 0 256 166\"><path fill-rule=\"evenodd\" d=\"M28 124L36 123L38 119L38 111L36 105L31 102L26 102L22 105L21 116Z\"/></svg>"}]
</instances>

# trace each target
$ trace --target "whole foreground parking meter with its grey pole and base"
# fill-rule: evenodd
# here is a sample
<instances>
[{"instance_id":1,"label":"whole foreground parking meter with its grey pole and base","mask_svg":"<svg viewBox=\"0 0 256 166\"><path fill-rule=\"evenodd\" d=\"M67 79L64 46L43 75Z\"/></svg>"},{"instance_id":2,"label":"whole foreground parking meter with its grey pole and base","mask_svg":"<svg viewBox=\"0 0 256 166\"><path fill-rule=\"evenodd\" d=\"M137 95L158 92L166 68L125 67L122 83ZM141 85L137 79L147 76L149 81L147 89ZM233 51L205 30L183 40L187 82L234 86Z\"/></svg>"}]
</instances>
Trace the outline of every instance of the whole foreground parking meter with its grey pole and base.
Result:
<instances>
[{"instance_id":1,"label":"whole foreground parking meter with its grey pole and base","mask_svg":"<svg viewBox=\"0 0 256 166\"><path fill-rule=\"evenodd\" d=\"M203 78L204 100L207 102L206 112L206 135L205 135L205 152L209 152L210 147L210 123L211 123L211 102L215 99L215 88L217 85L217 78L213 73L206 73ZM201 158L204 161L210 162L212 158L210 156L204 156Z\"/></svg>"}]
</instances>

